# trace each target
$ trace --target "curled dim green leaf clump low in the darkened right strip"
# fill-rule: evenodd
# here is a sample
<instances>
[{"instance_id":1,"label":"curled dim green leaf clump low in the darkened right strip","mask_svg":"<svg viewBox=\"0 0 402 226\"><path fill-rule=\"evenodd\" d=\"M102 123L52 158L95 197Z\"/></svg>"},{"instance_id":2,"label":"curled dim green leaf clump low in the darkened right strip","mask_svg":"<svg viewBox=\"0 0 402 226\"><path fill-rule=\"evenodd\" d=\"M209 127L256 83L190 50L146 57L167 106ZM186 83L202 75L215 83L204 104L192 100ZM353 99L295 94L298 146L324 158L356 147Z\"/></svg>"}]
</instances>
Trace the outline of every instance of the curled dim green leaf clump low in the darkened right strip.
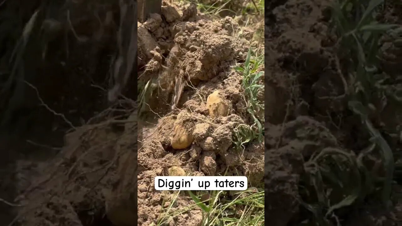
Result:
<instances>
[{"instance_id":1,"label":"curled dim green leaf clump low in the darkened right strip","mask_svg":"<svg viewBox=\"0 0 402 226\"><path fill-rule=\"evenodd\" d=\"M335 148L326 148L305 163L304 181L308 190L314 192L304 196L314 200L314 204L301 203L314 214L319 225L331 225L328 218L336 218L334 210L364 196L360 166L353 152Z\"/></svg>"}]
</instances>

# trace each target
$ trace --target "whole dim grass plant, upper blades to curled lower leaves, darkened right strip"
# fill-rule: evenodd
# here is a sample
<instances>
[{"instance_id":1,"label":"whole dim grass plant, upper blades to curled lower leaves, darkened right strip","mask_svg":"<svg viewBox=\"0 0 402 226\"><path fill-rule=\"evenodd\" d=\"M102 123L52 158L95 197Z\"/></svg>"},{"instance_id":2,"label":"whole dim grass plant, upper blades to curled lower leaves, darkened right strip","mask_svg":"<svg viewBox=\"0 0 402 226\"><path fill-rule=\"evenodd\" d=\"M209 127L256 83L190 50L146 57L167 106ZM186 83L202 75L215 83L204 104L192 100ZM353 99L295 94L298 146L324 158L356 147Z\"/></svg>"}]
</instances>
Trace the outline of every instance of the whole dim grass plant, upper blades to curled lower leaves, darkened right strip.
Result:
<instances>
[{"instance_id":1,"label":"whole dim grass plant, upper blades to curled lower leaves, darkened right strip","mask_svg":"<svg viewBox=\"0 0 402 226\"><path fill-rule=\"evenodd\" d=\"M384 0L341 0L332 8L333 31L338 36L338 57L346 62L345 95L349 108L361 117L362 127L371 139L367 148L357 155L336 149L325 149L306 162L305 187L301 188L304 207L314 215L318 225L338 222L334 211L349 205L357 205L367 195L379 197L384 207L390 207L394 173L393 152L381 133L369 119L373 109L373 95L383 92L378 83L384 77L379 71L379 41L384 35L399 37L398 25L379 24L376 14ZM340 70L344 76L344 70ZM374 109L379 111L379 109ZM378 178L369 171L364 159L374 152L381 156L384 177ZM371 169L370 169L371 170ZM377 183L379 182L379 183ZM310 187L309 187L310 186ZM307 198L306 198L307 197ZM314 200L314 201L312 201Z\"/></svg>"}]
</instances>

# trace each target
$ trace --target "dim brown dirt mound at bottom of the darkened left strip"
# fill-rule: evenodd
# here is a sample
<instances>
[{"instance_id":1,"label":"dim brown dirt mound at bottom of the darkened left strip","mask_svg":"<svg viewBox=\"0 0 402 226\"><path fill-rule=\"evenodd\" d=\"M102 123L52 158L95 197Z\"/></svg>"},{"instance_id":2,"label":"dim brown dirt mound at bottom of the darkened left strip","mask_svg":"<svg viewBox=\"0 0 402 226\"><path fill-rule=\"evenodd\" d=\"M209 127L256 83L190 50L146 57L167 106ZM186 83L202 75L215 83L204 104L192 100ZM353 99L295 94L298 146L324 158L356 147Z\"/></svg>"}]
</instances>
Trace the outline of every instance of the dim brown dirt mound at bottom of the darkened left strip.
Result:
<instances>
[{"instance_id":1,"label":"dim brown dirt mound at bottom of the darkened left strip","mask_svg":"<svg viewBox=\"0 0 402 226\"><path fill-rule=\"evenodd\" d=\"M104 121L66 135L61 157L43 167L46 174L34 179L16 199L23 204L18 222L124 225L117 223L127 222L121 216L135 216L136 115L134 111L125 121ZM116 123L125 124L124 131L117 132ZM130 214L120 215L123 211ZM135 222L136 218L128 220Z\"/></svg>"}]
</instances>

